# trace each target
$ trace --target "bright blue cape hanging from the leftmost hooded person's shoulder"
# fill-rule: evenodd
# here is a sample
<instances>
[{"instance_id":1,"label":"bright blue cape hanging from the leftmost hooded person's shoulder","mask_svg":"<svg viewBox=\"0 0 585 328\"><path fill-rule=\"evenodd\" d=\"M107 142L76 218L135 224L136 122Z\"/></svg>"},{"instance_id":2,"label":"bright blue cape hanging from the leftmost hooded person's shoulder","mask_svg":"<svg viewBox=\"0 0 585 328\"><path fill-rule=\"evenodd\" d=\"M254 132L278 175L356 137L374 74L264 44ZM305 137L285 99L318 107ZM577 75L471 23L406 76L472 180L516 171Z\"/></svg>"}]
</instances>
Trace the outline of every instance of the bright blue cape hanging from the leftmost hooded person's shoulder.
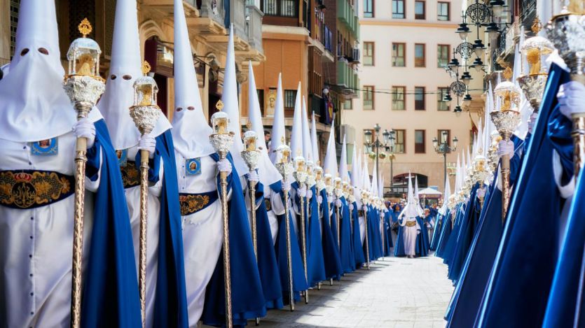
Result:
<instances>
[{"instance_id":1,"label":"bright blue cape hanging from the leftmost hooded person's shoulder","mask_svg":"<svg viewBox=\"0 0 585 328\"><path fill-rule=\"evenodd\" d=\"M142 327L132 229L118 157L104 120L95 122L95 130L88 169L99 167L96 161L102 152L102 171L83 275L81 326Z\"/></svg>"}]
</instances>

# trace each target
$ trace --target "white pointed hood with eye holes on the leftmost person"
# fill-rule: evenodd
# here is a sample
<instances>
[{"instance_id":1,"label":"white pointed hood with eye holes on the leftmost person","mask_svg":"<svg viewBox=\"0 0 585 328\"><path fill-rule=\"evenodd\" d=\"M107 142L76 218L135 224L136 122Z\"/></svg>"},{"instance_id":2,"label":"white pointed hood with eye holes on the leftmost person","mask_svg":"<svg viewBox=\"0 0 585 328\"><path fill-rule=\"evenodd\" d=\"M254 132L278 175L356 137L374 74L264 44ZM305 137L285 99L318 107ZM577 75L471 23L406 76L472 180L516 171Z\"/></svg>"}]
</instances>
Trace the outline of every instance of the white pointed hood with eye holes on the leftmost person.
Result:
<instances>
[{"instance_id":1,"label":"white pointed hood with eye holes on the leftmost person","mask_svg":"<svg viewBox=\"0 0 585 328\"><path fill-rule=\"evenodd\" d=\"M71 131L76 113L63 90L60 58L55 1L21 1L10 73L0 80L1 139L40 141Z\"/></svg>"}]
</instances>

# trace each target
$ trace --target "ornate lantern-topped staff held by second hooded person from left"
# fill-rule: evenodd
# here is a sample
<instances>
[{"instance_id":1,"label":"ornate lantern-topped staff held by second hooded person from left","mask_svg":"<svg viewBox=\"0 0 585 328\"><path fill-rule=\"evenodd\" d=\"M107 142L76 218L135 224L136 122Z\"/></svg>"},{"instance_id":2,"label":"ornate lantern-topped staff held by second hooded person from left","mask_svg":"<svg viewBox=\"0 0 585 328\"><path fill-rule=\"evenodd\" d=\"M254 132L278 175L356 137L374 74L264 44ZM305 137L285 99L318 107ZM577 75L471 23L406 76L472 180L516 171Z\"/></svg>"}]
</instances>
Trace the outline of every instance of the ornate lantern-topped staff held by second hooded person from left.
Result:
<instances>
[{"instance_id":1,"label":"ornate lantern-topped staff held by second hooded person from left","mask_svg":"<svg viewBox=\"0 0 585 328\"><path fill-rule=\"evenodd\" d=\"M134 105L130 106L130 117L140 134L150 134L158 116L160 108L156 104L158 85L147 74L151 71L148 62L142 64L141 76L134 83ZM146 224L149 218L149 151L140 150L140 234L138 250L138 285L140 290L140 309L142 311L142 327L146 325Z\"/></svg>"}]
</instances>

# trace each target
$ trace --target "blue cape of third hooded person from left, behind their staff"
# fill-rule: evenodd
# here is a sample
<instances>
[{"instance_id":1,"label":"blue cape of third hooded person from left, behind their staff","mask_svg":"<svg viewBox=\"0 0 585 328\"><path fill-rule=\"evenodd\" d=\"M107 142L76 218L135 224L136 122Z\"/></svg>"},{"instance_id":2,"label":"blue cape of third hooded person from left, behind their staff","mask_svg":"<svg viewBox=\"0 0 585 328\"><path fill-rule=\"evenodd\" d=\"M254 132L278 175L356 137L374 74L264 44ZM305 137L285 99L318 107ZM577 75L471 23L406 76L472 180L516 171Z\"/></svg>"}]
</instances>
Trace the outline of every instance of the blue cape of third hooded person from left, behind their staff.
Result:
<instances>
[{"instance_id":1,"label":"blue cape of third hooded person from left, behind their staff","mask_svg":"<svg viewBox=\"0 0 585 328\"><path fill-rule=\"evenodd\" d=\"M219 161L217 154L211 157ZM238 172L232 163L232 173L228 176L228 190L231 199L228 202L229 238L230 238L230 271L232 290L233 325L245 325L247 319L261 318L266 315L266 301L262 291L258 264L254 256L252 234L247 218L244 192L240 185ZM217 189L220 190L219 176ZM226 324L226 295L223 284L223 247L207 290L205 290L205 306L201 320L204 325L223 326Z\"/></svg>"}]
</instances>

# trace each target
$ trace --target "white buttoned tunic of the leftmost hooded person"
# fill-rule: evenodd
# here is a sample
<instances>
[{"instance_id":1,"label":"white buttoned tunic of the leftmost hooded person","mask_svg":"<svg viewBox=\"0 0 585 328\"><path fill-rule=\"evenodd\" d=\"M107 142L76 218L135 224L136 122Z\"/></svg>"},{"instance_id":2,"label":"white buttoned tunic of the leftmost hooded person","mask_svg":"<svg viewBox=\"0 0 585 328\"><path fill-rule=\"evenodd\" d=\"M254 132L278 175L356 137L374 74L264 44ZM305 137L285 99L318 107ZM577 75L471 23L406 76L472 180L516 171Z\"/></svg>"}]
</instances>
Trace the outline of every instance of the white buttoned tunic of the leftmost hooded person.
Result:
<instances>
[{"instance_id":1,"label":"white buttoned tunic of the leftmost hooded person","mask_svg":"<svg viewBox=\"0 0 585 328\"><path fill-rule=\"evenodd\" d=\"M57 138L57 155L32 155L29 143L0 140L0 171L30 169L73 176L75 136ZM87 259L93 194L85 179L83 259ZM74 185L71 188L74 189ZM74 195L32 209L0 206L0 322L5 327L69 327Z\"/></svg>"}]
</instances>

